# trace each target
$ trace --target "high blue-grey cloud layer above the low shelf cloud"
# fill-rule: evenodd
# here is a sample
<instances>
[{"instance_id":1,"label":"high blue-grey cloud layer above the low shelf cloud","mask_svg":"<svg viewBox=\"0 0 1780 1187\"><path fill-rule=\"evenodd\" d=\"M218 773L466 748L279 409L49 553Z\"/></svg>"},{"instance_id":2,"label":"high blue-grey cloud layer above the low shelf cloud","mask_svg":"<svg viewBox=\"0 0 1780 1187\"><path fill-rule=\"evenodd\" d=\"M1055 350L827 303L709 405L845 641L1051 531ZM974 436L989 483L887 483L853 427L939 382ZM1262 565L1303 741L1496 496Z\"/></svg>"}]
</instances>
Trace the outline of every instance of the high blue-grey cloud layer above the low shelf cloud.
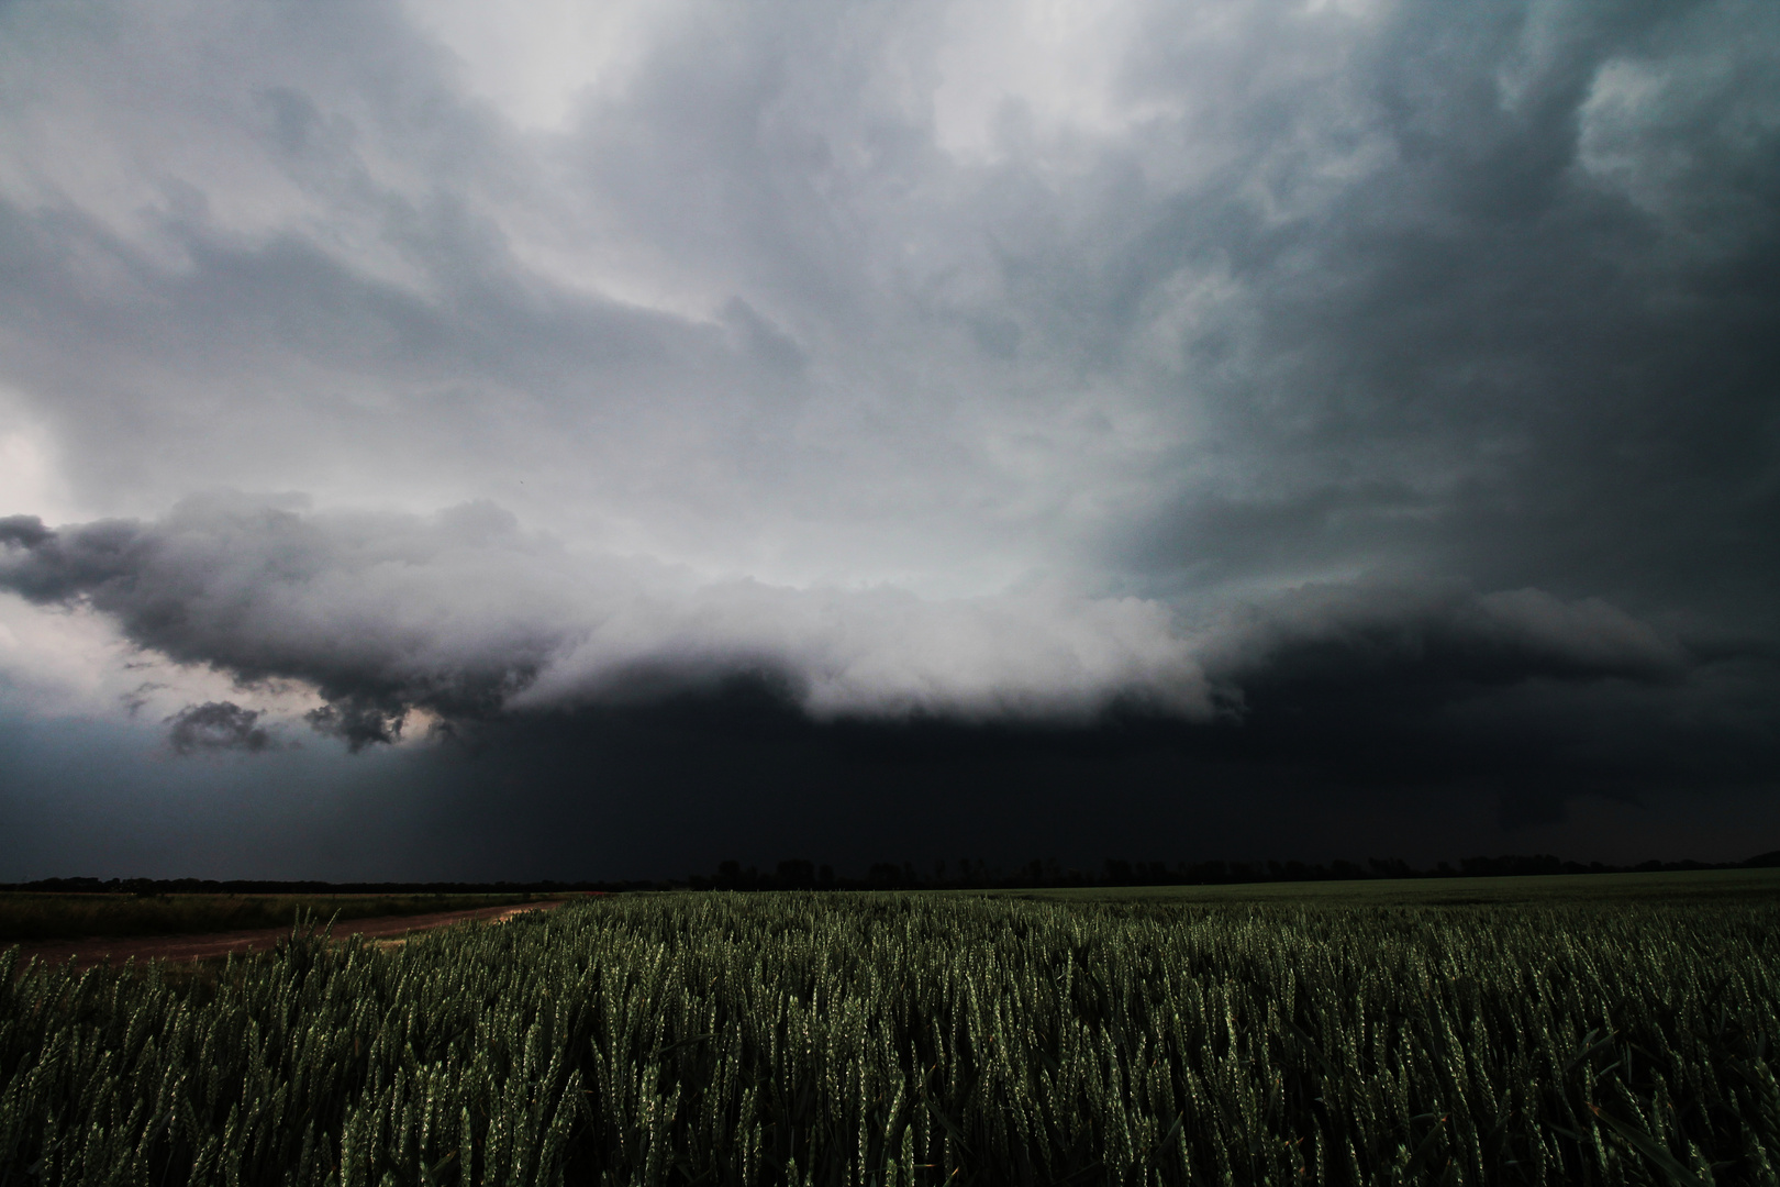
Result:
<instances>
[{"instance_id":1,"label":"high blue-grey cloud layer above the low shelf cloud","mask_svg":"<svg viewBox=\"0 0 1780 1187\"><path fill-rule=\"evenodd\" d=\"M14 12L233 164L9 198L11 379L137 514L493 498L769 580L1383 564L1766 618L1766 9L1121 14L1100 125L949 112L936 11L783 9L664 18L536 133L393 9L121 59Z\"/></svg>"}]
</instances>

